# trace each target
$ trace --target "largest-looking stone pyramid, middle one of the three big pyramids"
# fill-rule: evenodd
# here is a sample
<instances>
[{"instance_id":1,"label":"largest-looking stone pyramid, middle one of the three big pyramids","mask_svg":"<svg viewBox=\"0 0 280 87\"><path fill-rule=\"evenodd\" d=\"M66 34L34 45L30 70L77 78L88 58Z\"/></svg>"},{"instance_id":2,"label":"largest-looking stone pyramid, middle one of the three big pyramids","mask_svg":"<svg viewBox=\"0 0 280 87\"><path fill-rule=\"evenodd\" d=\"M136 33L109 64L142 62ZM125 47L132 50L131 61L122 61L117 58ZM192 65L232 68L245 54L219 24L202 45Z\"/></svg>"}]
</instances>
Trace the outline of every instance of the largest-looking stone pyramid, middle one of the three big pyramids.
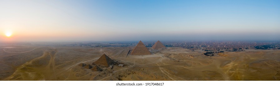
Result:
<instances>
[{"instance_id":1,"label":"largest-looking stone pyramid, middle one of the three big pyramids","mask_svg":"<svg viewBox=\"0 0 280 87\"><path fill-rule=\"evenodd\" d=\"M136 47L131 51L131 55L150 55L150 51L144 43L140 40Z\"/></svg>"}]
</instances>

